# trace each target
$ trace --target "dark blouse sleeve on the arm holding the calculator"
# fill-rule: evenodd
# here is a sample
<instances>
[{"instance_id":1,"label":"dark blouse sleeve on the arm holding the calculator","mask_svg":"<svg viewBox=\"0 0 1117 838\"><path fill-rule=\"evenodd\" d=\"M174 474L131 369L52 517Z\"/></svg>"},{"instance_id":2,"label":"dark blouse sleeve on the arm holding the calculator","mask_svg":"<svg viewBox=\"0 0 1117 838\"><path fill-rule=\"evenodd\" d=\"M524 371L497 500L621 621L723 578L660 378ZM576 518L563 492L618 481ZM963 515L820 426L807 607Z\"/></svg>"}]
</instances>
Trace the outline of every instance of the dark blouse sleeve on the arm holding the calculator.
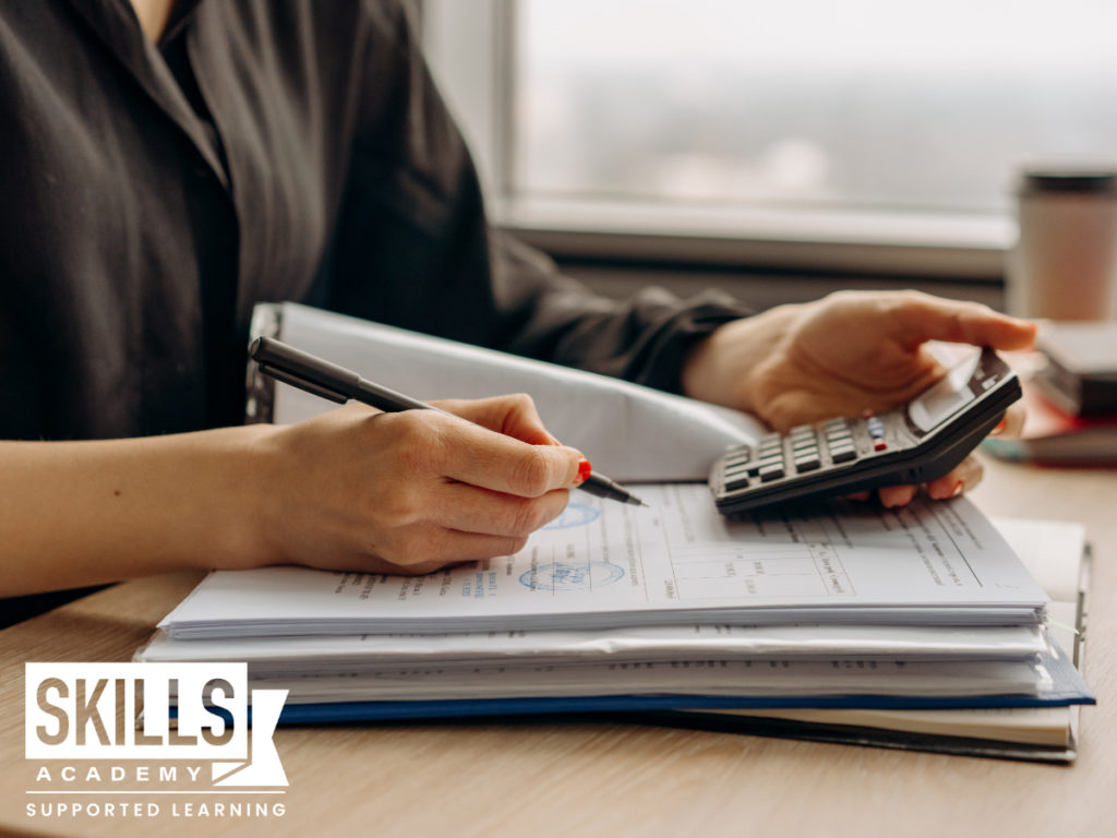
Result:
<instances>
[{"instance_id":1,"label":"dark blouse sleeve on the arm holding the calculator","mask_svg":"<svg viewBox=\"0 0 1117 838\"><path fill-rule=\"evenodd\" d=\"M327 305L677 391L687 350L750 314L724 293L593 294L496 231L465 142L397 4L369 4Z\"/></svg>"}]
</instances>

